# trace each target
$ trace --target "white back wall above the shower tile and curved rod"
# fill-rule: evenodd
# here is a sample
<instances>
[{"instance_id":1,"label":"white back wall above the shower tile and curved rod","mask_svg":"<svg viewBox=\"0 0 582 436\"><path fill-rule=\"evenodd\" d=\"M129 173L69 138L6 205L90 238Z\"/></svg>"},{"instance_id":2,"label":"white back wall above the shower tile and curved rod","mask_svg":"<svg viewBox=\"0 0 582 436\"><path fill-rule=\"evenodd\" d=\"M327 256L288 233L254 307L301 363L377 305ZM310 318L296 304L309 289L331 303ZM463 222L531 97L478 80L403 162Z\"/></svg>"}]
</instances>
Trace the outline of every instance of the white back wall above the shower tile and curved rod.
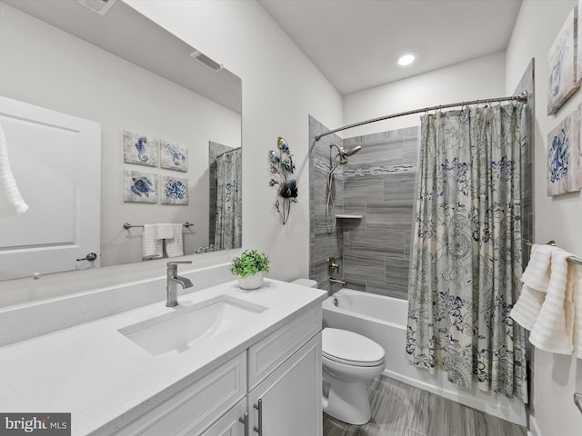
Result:
<instances>
[{"instance_id":1,"label":"white back wall above the shower tile and curved rod","mask_svg":"<svg viewBox=\"0 0 582 436\"><path fill-rule=\"evenodd\" d=\"M344 97L344 123L358 123L438 104L498 97L505 93L504 74L505 53L501 52L349 94ZM349 138L419 125L421 115L366 124L338 134Z\"/></svg>"}]
</instances>

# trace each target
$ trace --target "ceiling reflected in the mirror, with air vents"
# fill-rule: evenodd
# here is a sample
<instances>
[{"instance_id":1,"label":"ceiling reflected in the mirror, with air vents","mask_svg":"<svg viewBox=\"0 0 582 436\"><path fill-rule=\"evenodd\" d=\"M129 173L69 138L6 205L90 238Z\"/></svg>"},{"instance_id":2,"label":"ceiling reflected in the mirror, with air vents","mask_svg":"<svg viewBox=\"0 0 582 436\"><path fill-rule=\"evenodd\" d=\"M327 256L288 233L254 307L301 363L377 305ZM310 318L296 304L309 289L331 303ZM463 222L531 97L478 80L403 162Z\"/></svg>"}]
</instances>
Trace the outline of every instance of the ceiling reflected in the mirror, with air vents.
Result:
<instances>
[{"instance_id":1,"label":"ceiling reflected in the mirror, with air vents","mask_svg":"<svg viewBox=\"0 0 582 436\"><path fill-rule=\"evenodd\" d=\"M240 78L215 72L192 59L195 47L172 35L124 2L101 16L74 0L0 0L49 25L139 65L240 114ZM0 10L0 13L2 11Z\"/></svg>"}]
</instances>

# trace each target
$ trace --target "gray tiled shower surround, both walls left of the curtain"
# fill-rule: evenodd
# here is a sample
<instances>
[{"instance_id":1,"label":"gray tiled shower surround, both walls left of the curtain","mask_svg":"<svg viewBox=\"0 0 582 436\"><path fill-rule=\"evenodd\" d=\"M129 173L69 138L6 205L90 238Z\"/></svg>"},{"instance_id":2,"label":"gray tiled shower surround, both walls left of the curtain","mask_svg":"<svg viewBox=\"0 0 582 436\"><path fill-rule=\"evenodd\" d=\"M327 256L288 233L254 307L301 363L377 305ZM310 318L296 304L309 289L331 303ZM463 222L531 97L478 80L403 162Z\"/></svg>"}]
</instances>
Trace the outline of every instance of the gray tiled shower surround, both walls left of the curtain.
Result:
<instances>
[{"instance_id":1,"label":"gray tiled shower surround, both walls left of the curtain","mask_svg":"<svg viewBox=\"0 0 582 436\"><path fill-rule=\"evenodd\" d=\"M332 292L341 285L330 283L330 277L345 280L352 289L406 299L419 129L345 140L332 134L315 142L315 134L328 129L313 117L309 126L310 277L321 289ZM348 149L362 146L336 169L332 190L336 213L361 218L339 218L335 228L326 225L331 144ZM339 272L328 271L327 260L332 256L340 264Z\"/></svg>"}]
</instances>

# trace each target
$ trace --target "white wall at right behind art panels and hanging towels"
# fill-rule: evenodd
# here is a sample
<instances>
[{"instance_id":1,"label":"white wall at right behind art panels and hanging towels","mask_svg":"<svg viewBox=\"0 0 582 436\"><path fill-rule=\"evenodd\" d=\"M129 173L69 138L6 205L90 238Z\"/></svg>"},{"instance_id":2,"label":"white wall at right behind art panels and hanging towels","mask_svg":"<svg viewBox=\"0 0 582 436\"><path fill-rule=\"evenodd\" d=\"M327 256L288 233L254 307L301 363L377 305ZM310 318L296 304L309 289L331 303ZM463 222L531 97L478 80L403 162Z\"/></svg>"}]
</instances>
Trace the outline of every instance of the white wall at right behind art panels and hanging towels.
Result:
<instances>
[{"instance_id":1,"label":"white wall at right behind art panels and hanging towels","mask_svg":"<svg viewBox=\"0 0 582 436\"><path fill-rule=\"evenodd\" d=\"M524 0L507 47L506 90L513 90L527 64L535 58L536 163L534 186L535 235L538 243L555 240L582 255L582 199L579 193L547 196L547 134L582 103L580 91L556 115L547 116L547 54L577 1ZM582 391L582 360L536 351L534 356L532 430L539 436L578 436L582 414L572 394Z\"/></svg>"}]
</instances>

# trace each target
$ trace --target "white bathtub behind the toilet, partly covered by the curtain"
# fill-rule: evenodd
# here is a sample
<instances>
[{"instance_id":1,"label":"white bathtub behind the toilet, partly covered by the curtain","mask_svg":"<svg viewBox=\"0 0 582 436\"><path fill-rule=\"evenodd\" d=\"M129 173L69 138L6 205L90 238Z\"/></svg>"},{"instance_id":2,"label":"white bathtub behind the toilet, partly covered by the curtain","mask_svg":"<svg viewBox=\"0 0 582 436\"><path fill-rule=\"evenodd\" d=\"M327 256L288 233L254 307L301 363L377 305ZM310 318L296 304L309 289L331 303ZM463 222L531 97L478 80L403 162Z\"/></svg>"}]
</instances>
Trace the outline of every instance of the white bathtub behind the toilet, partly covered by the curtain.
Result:
<instances>
[{"instance_id":1,"label":"white bathtub behind the toilet, partly covered by the curtain","mask_svg":"<svg viewBox=\"0 0 582 436\"><path fill-rule=\"evenodd\" d=\"M406 300L343 289L323 302L324 327L360 333L382 345L386 351L384 375L388 377L504 420L527 424L526 409L521 401L494 396L477 387L460 388L447 381L443 372L431 375L408 362L405 352L407 308Z\"/></svg>"}]
</instances>

